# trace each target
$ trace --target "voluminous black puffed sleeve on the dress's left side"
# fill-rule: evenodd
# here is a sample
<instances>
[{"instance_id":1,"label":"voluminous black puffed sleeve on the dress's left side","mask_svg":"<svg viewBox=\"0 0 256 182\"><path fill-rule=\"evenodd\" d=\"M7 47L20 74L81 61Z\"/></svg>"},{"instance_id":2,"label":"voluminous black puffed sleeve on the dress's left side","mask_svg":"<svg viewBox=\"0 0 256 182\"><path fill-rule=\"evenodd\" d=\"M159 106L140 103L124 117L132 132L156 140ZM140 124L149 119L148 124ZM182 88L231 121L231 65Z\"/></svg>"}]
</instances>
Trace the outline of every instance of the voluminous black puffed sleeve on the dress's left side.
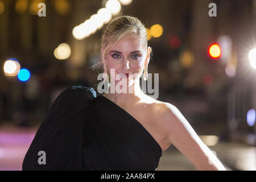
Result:
<instances>
[{"instance_id":1,"label":"voluminous black puffed sleeve on the dress's left side","mask_svg":"<svg viewBox=\"0 0 256 182\"><path fill-rule=\"evenodd\" d=\"M71 86L59 94L24 157L22 170L82 170L84 126L93 88Z\"/></svg>"}]
</instances>

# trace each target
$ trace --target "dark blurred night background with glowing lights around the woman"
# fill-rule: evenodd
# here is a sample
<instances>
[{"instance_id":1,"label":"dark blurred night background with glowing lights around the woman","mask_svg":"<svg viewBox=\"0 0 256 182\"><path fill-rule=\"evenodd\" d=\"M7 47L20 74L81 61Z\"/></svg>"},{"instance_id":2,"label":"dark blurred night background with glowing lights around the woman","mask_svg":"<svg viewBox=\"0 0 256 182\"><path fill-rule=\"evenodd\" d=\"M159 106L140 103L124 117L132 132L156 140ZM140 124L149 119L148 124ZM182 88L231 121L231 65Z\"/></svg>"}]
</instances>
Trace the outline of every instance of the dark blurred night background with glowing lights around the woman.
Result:
<instances>
[{"instance_id":1,"label":"dark blurred night background with glowing lights around the woman","mask_svg":"<svg viewBox=\"0 0 256 182\"><path fill-rule=\"evenodd\" d=\"M0 0L0 170L21 169L63 90L97 92L102 69L90 67L100 61L106 24L121 15L148 28L158 100L181 111L226 169L255 170L255 0ZM88 19L89 29L82 24ZM196 169L170 146L157 170Z\"/></svg>"}]
</instances>

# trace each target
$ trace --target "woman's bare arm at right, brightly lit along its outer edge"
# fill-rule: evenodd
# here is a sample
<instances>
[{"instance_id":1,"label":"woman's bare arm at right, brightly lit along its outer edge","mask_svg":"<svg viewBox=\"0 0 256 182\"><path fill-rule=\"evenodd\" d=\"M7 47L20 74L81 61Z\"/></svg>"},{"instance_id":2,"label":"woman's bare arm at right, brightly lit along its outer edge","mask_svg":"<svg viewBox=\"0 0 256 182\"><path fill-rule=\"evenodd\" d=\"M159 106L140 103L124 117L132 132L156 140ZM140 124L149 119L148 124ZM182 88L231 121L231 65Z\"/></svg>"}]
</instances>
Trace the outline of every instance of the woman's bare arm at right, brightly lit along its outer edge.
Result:
<instances>
[{"instance_id":1,"label":"woman's bare arm at right, brightly lit along its outer edge","mask_svg":"<svg viewBox=\"0 0 256 182\"><path fill-rule=\"evenodd\" d=\"M172 144L192 162L197 170L226 171L220 160L199 138L177 107L169 103L166 105L164 125L167 126L168 139Z\"/></svg>"}]
</instances>

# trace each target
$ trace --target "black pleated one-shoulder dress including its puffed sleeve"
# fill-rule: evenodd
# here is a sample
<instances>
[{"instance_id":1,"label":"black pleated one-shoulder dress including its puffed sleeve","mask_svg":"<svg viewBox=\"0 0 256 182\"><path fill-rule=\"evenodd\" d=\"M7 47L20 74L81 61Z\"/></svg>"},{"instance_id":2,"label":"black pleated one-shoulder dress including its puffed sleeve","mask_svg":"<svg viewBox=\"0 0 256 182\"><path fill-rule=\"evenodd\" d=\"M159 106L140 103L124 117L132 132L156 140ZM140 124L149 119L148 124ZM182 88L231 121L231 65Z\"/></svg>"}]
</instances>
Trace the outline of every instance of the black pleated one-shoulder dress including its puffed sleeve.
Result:
<instances>
[{"instance_id":1,"label":"black pleated one-shoulder dress including its puffed sleeve","mask_svg":"<svg viewBox=\"0 0 256 182\"><path fill-rule=\"evenodd\" d=\"M46 164L39 164L39 151ZM71 86L53 102L23 170L155 170L162 149L148 131L93 88Z\"/></svg>"}]
</instances>

